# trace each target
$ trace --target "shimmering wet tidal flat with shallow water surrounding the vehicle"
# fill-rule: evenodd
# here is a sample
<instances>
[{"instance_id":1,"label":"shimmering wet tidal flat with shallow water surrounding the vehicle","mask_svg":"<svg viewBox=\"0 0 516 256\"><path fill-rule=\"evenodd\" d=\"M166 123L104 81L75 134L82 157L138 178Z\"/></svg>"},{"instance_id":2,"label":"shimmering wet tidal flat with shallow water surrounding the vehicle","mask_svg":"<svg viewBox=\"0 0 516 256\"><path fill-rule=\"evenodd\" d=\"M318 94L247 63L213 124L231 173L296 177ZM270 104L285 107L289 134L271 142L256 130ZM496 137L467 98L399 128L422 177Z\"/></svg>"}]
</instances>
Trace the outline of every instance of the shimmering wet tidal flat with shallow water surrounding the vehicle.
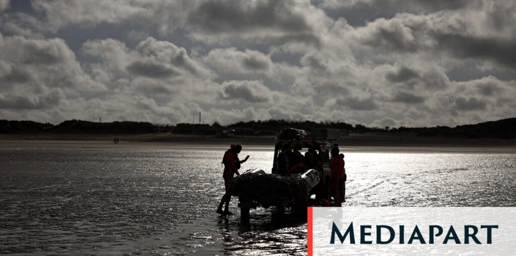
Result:
<instances>
[{"instance_id":1,"label":"shimmering wet tidal flat with shallow water surrounding the vehicle","mask_svg":"<svg viewBox=\"0 0 516 256\"><path fill-rule=\"evenodd\" d=\"M304 216L214 213L224 150L0 145L0 253L305 254ZM516 154L413 152L345 150L344 205L516 206ZM247 154L270 172L272 149Z\"/></svg>"}]
</instances>

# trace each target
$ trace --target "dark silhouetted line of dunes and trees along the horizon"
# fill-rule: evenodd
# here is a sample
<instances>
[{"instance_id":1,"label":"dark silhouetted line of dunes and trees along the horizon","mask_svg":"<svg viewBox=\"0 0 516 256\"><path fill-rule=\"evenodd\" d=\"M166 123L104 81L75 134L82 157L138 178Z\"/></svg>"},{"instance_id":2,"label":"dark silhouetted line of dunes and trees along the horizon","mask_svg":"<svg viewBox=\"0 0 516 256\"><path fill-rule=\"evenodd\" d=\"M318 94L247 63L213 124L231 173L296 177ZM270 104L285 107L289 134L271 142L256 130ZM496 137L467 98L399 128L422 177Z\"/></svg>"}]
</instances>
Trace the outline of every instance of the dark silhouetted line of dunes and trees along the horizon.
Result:
<instances>
[{"instance_id":1,"label":"dark silhouetted line of dunes and trees along the horizon","mask_svg":"<svg viewBox=\"0 0 516 256\"><path fill-rule=\"evenodd\" d=\"M0 133L85 133L85 134L145 134L171 132L174 134L216 135L222 130L235 130L237 135L277 135L285 127L310 131L312 129L336 129L350 133L415 133L425 137L464 137L464 138L515 138L516 118L503 119L478 124L459 125L456 127L367 127L363 124L345 122L313 122L293 120L267 120L237 122L229 125L178 123L151 124L149 122L109 122L99 123L82 120L68 120L58 125L33 121L0 120Z\"/></svg>"}]
</instances>

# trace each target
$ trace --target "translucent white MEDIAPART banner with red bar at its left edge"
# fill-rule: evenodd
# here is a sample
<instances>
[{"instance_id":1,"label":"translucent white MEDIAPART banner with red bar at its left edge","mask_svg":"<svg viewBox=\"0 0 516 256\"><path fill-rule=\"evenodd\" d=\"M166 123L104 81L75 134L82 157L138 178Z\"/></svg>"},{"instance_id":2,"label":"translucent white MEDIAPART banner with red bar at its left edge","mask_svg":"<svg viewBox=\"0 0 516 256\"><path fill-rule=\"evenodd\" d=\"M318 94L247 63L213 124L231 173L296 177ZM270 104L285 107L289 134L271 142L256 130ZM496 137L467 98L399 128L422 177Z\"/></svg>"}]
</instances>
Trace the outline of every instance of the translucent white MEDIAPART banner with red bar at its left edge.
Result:
<instances>
[{"instance_id":1,"label":"translucent white MEDIAPART banner with red bar at its left edge","mask_svg":"<svg viewBox=\"0 0 516 256\"><path fill-rule=\"evenodd\" d=\"M516 207L312 207L308 252L513 255L514 213Z\"/></svg>"}]
</instances>

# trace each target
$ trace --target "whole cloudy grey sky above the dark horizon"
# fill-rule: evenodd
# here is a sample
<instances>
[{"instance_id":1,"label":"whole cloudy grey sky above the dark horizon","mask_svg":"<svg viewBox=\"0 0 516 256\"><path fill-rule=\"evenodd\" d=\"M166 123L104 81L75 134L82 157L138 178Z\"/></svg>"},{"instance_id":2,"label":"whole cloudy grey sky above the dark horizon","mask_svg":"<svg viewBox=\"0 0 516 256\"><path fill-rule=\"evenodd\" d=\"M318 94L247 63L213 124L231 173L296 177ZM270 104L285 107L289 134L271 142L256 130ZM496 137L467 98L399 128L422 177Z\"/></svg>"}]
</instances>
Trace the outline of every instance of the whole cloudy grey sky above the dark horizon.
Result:
<instances>
[{"instance_id":1,"label":"whole cloudy grey sky above the dark horizon","mask_svg":"<svg viewBox=\"0 0 516 256\"><path fill-rule=\"evenodd\" d=\"M0 0L0 119L516 116L516 2Z\"/></svg>"}]
</instances>

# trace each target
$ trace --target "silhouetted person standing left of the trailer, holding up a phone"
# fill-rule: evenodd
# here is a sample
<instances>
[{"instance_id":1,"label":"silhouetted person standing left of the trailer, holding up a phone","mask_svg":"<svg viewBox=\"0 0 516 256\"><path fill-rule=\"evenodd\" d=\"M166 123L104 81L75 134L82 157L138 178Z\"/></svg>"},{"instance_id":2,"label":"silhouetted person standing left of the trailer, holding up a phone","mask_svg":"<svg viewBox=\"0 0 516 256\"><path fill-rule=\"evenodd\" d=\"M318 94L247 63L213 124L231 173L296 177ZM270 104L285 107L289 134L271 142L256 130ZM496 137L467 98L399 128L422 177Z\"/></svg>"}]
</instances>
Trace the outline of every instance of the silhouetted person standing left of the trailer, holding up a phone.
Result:
<instances>
[{"instance_id":1,"label":"silhouetted person standing left of the trailer, holding up a phone","mask_svg":"<svg viewBox=\"0 0 516 256\"><path fill-rule=\"evenodd\" d=\"M231 201L231 194L228 193L228 185L233 179L234 175L240 175L238 173L238 169L240 169L240 164L244 163L249 159L249 156L242 161L238 159L238 154L242 151L242 146L231 144L230 149L228 149L224 156L222 157L222 164L224 165L224 173L222 174L222 178L224 178L224 187L226 189L222 199L220 200L219 206L217 207L217 213L221 215L233 215L234 213L229 211L229 202ZM225 203L224 211L222 211L222 206Z\"/></svg>"}]
</instances>

